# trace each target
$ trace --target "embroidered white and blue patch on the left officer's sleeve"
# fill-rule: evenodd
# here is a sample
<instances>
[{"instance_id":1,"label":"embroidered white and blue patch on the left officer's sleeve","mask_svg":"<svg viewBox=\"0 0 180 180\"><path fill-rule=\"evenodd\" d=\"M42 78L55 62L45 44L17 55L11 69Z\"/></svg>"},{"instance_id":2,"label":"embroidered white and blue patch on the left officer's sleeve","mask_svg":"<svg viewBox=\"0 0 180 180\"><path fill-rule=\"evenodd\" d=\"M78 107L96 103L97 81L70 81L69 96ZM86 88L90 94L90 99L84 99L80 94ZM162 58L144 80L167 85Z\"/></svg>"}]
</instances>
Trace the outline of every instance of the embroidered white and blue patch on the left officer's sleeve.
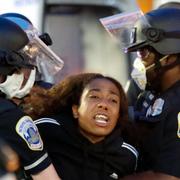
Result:
<instances>
[{"instance_id":1,"label":"embroidered white and blue patch on the left officer's sleeve","mask_svg":"<svg viewBox=\"0 0 180 180\"><path fill-rule=\"evenodd\" d=\"M31 150L41 151L43 149L42 139L31 117L22 117L16 124L16 132L25 140Z\"/></svg>"}]
</instances>

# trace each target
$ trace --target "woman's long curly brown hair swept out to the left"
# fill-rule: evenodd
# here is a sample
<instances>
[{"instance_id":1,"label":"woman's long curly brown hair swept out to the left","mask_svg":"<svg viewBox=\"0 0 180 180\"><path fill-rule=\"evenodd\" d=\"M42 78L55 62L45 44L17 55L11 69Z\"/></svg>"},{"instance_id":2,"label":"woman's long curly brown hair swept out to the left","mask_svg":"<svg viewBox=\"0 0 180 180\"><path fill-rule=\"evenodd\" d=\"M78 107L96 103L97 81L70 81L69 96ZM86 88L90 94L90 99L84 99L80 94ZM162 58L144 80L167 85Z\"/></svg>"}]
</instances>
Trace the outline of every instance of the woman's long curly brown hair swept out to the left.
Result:
<instances>
[{"instance_id":1,"label":"woman's long curly brown hair swept out to the left","mask_svg":"<svg viewBox=\"0 0 180 180\"><path fill-rule=\"evenodd\" d=\"M79 105L84 88L94 79L107 79L118 88L120 93L121 125L127 122L128 103L121 84L112 77L99 73L81 73L66 77L51 89L45 90L36 87L25 99L24 110L33 118L67 112L72 115L72 105Z\"/></svg>"}]
</instances>

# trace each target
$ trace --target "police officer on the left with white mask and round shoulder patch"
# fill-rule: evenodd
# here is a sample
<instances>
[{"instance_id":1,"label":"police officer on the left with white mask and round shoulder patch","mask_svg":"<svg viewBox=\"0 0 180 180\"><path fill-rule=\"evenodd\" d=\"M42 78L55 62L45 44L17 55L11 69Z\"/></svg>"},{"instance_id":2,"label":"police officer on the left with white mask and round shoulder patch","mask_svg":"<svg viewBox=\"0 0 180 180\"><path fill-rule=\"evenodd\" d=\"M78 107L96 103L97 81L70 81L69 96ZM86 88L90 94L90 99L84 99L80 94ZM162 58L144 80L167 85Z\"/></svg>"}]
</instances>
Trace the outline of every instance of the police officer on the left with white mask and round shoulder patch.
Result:
<instances>
[{"instance_id":1,"label":"police officer on the left with white mask and round shoulder patch","mask_svg":"<svg viewBox=\"0 0 180 180\"><path fill-rule=\"evenodd\" d=\"M0 137L33 179L59 179L31 117L11 101L26 96L35 81L36 68L27 54L31 39L6 18L0 17L0 27Z\"/></svg>"}]
</instances>

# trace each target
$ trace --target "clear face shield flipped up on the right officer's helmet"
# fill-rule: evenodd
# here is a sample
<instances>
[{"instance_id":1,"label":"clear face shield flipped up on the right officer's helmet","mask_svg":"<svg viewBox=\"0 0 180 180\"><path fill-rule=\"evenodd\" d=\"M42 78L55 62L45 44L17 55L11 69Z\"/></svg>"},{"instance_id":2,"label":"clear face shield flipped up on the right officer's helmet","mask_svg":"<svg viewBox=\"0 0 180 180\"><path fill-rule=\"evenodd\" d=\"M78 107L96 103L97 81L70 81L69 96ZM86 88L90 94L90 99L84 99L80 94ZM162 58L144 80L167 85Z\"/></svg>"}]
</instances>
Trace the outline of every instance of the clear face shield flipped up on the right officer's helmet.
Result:
<instances>
[{"instance_id":1,"label":"clear face shield flipped up on the right officer's helmet","mask_svg":"<svg viewBox=\"0 0 180 180\"><path fill-rule=\"evenodd\" d=\"M136 27L136 23L139 20L141 20L141 26L150 27L140 10L130 13L120 13L100 19L105 29L118 40L125 52L128 52L128 48L131 46L144 44L146 40L145 37L137 37L138 28Z\"/></svg>"}]
</instances>

